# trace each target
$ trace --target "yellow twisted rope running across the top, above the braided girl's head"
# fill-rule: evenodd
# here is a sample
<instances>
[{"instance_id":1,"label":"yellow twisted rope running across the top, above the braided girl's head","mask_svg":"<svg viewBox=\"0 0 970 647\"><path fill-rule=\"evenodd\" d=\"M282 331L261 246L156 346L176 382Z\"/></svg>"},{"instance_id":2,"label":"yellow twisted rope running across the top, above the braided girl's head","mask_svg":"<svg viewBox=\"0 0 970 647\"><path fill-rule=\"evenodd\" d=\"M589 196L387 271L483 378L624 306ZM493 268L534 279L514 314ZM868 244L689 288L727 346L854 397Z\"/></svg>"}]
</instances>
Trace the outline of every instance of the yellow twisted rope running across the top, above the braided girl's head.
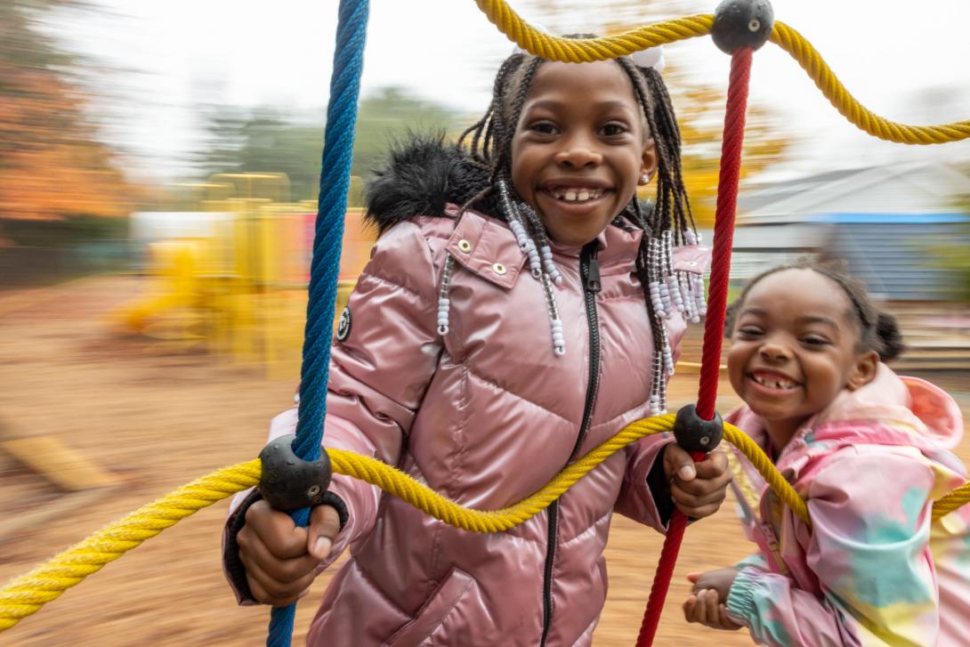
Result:
<instances>
[{"instance_id":1,"label":"yellow twisted rope running across the top, above the braided girl's head","mask_svg":"<svg viewBox=\"0 0 970 647\"><path fill-rule=\"evenodd\" d=\"M519 47L548 60L568 63L626 56L640 49L705 36L714 24L714 16L704 14L645 25L616 36L567 39L536 30L504 0L475 0L475 4ZM770 41L798 61L839 113L874 137L898 144L945 144L970 137L970 119L935 126L910 126L872 113L849 93L812 44L784 22L775 22Z\"/></svg>"}]
</instances>

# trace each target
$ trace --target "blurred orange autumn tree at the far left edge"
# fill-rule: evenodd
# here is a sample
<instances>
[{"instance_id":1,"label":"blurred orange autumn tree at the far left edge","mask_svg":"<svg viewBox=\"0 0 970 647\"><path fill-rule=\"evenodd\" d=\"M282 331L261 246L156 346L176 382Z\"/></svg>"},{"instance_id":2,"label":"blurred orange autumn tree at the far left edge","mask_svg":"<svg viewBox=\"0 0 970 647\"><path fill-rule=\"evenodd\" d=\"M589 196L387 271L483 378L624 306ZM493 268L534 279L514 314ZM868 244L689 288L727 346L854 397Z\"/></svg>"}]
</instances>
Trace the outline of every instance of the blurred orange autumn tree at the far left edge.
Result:
<instances>
[{"instance_id":1,"label":"blurred orange autumn tree at the far left edge","mask_svg":"<svg viewBox=\"0 0 970 647\"><path fill-rule=\"evenodd\" d=\"M0 217L123 215L128 187L85 111L80 59L41 28L76 0L0 3Z\"/></svg>"}]
</instances>

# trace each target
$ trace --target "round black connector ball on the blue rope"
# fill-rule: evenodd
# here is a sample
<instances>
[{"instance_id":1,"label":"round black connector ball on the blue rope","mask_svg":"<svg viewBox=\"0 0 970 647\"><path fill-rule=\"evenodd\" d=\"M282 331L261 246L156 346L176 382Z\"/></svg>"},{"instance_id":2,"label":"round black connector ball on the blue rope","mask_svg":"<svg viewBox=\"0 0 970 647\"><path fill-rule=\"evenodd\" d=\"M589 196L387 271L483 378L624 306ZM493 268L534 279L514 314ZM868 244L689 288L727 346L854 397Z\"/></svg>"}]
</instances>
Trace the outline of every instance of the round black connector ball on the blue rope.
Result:
<instances>
[{"instance_id":1,"label":"round black connector ball on the blue rope","mask_svg":"<svg viewBox=\"0 0 970 647\"><path fill-rule=\"evenodd\" d=\"M294 438L292 434L275 438L259 453L260 494L284 512L319 504L330 487L332 475L327 452L316 461L304 461L293 453Z\"/></svg>"}]
</instances>

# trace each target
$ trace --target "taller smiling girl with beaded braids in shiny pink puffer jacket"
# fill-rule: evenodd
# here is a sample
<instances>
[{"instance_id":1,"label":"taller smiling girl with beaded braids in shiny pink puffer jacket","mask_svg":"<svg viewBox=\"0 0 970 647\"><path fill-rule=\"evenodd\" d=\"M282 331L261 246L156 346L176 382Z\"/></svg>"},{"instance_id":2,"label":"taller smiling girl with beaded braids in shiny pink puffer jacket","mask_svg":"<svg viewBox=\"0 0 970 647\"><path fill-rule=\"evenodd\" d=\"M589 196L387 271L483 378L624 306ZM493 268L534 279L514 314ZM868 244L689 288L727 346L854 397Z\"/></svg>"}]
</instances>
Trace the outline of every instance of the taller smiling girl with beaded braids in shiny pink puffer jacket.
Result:
<instances>
[{"instance_id":1,"label":"taller smiling girl with beaded braids in shiny pink puffer jacket","mask_svg":"<svg viewBox=\"0 0 970 647\"><path fill-rule=\"evenodd\" d=\"M459 146L393 153L369 190L380 238L341 316L325 447L496 509L663 410L705 254L663 81L639 63L515 53ZM650 209L635 193L655 174ZM695 467L669 442L631 444L501 534L342 476L308 529L253 494L230 518L226 569L242 601L284 604L349 547L312 645L589 645L613 512L663 532L674 501L703 517L725 497L723 454Z\"/></svg>"}]
</instances>

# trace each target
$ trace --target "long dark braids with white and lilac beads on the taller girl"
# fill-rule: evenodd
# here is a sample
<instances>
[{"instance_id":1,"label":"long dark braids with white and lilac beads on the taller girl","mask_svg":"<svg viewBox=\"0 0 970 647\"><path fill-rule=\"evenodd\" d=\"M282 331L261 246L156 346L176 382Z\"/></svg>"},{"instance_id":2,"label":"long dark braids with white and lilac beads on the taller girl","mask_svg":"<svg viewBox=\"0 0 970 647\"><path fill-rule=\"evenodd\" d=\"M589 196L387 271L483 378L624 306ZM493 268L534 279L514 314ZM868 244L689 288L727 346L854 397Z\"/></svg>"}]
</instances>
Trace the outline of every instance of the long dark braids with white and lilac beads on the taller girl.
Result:
<instances>
[{"instance_id":1,"label":"long dark braids with white and lilac beads on the taller girl","mask_svg":"<svg viewBox=\"0 0 970 647\"><path fill-rule=\"evenodd\" d=\"M566 38L588 37L573 35ZM664 373L673 373L672 352L663 319L678 309L694 321L699 321L699 315L704 313L703 281L699 276L675 273L672 267L673 245L696 243L697 238L681 168L680 129L670 95L656 70L638 67L627 57L615 61L630 79L634 98L646 121L648 137L653 139L658 157L654 201L641 204L634 194L630 204L616 216L612 224L628 231L632 228L643 231L635 272L643 286L647 316L651 323L654 379L650 400L653 412L659 413L665 408ZM553 320L553 337L557 338L558 327L559 339L562 339L562 323L558 319L555 295L549 280L552 278L559 282L560 279L554 270L545 228L533 209L517 200L517 196L509 195L514 194L511 186L512 140L535 73L545 62L538 56L516 52L501 63L488 110L461 134L456 145L475 170L466 177L476 178L477 181L453 186L453 189L456 197L464 202L461 212L474 207L509 223L523 251L529 254L533 262L533 275L544 283ZM543 270L543 263L548 271ZM696 296L698 293L699 297ZM446 293L442 292L441 296L441 303L445 304ZM671 298L676 302L676 307L671 306ZM446 317L447 310L442 305L439 320ZM561 350L565 352L565 349L556 347L557 354L562 354Z\"/></svg>"}]
</instances>

